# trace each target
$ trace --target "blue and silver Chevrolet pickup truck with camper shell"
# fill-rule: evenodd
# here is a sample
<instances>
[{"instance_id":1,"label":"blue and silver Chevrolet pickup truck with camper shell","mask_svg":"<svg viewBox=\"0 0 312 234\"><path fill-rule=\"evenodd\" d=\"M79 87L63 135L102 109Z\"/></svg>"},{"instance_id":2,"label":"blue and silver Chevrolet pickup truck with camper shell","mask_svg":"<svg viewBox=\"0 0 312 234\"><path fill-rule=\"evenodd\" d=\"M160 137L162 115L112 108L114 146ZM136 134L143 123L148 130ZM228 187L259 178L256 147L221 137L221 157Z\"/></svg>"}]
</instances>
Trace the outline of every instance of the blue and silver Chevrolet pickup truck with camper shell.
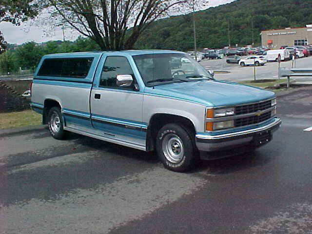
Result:
<instances>
[{"instance_id":1,"label":"blue and silver Chevrolet pickup truck with camper shell","mask_svg":"<svg viewBox=\"0 0 312 234\"><path fill-rule=\"evenodd\" d=\"M281 124L273 92L215 80L190 55L165 50L43 56L31 107L56 139L74 132L156 150L176 172L215 152L262 146Z\"/></svg>"}]
</instances>

